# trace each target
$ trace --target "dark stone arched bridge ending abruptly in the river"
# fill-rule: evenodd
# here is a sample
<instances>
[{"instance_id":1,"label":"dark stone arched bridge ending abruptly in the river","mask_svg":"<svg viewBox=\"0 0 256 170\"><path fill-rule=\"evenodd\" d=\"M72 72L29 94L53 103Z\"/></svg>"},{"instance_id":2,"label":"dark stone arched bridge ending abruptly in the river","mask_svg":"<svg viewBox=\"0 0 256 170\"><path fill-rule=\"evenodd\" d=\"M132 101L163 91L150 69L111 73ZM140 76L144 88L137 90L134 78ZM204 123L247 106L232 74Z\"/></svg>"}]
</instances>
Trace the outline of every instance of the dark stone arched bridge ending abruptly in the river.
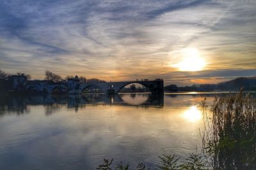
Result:
<instances>
[{"instance_id":1,"label":"dark stone arched bridge ending abruptly in the river","mask_svg":"<svg viewBox=\"0 0 256 170\"><path fill-rule=\"evenodd\" d=\"M86 89L97 88L102 93L116 94L120 92L126 85L138 83L143 85L152 94L163 93L164 82L161 79L153 81L141 80L141 81L116 81L116 82L104 82L104 83L80 83L79 80L72 79L68 81L60 81L53 83L52 81L28 81L26 83L26 91L28 92L45 92L51 94L54 92L67 92L68 94L81 94Z\"/></svg>"}]
</instances>

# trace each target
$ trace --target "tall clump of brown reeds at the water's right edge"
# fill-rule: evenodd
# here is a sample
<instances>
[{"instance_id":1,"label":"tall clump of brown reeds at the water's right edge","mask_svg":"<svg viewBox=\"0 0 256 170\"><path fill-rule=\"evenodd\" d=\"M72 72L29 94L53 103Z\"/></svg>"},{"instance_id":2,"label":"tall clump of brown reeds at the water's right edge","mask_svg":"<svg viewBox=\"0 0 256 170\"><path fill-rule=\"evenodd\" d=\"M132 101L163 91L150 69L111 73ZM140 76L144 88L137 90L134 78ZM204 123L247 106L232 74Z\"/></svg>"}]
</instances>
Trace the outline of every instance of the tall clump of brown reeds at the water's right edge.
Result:
<instances>
[{"instance_id":1,"label":"tall clump of brown reeds at the water's right edge","mask_svg":"<svg viewBox=\"0 0 256 170\"><path fill-rule=\"evenodd\" d=\"M207 106L205 106L207 108ZM205 111L205 152L214 169L256 169L256 100L241 90ZM211 118L211 119L210 119Z\"/></svg>"}]
</instances>

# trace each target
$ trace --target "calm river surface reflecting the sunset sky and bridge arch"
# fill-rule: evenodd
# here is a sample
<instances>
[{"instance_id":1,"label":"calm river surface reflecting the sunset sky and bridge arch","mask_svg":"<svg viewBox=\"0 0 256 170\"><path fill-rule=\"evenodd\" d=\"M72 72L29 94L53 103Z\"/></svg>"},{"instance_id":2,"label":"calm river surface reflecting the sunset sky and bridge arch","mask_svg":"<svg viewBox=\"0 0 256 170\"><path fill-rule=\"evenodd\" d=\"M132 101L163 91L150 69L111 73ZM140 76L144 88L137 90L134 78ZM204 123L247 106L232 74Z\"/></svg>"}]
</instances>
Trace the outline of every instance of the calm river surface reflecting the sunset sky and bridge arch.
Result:
<instances>
[{"instance_id":1,"label":"calm river surface reflecting the sunset sky and bridge arch","mask_svg":"<svg viewBox=\"0 0 256 170\"><path fill-rule=\"evenodd\" d=\"M0 169L96 169L103 158L155 167L200 152L201 101L214 94L5 96Z\"/></svg>"}]
</instances>

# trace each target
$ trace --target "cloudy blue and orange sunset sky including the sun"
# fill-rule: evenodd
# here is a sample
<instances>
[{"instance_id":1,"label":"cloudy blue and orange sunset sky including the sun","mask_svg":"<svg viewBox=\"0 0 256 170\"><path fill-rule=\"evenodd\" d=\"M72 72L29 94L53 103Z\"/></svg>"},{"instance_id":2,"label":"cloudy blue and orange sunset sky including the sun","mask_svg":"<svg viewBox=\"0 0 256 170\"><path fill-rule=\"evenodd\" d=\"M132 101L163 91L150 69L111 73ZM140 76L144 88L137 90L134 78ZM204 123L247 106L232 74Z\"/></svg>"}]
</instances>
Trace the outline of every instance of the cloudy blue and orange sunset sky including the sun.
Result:
<instances>
[{"instance_id":1,"label":"cloudy blue and orange sunset sky including the sun","mask_svg":"<svg viewBox=\"0 0 256 170\"><path fill-rule=\"evenodd\" d=\"M255 16L255 0L1 0L0 69L165 85L256 76Z\"/></svg>"}]
</instances>

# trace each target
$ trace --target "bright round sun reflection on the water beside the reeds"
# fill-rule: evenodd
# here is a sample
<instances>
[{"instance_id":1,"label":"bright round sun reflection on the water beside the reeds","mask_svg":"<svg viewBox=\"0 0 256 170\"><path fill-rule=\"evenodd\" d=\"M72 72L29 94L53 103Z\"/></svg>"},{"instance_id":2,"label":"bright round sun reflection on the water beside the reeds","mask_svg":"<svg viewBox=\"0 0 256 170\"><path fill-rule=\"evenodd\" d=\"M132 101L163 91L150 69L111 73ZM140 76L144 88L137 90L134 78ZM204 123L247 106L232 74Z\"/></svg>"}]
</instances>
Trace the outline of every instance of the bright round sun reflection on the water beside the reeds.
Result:
<instances>
[{"instance_id":1,"label":"bright round sun reflection on the water beside the reeds","mask_svg":"<svg viewBox=\"0 0 256 170\"><path fill-rule=\"evenodd\" d=\"M189 122L197 122L202 118L202 113L196 106L190 106L184 111L184 118Z\"/></svg>"}]
</instances>

